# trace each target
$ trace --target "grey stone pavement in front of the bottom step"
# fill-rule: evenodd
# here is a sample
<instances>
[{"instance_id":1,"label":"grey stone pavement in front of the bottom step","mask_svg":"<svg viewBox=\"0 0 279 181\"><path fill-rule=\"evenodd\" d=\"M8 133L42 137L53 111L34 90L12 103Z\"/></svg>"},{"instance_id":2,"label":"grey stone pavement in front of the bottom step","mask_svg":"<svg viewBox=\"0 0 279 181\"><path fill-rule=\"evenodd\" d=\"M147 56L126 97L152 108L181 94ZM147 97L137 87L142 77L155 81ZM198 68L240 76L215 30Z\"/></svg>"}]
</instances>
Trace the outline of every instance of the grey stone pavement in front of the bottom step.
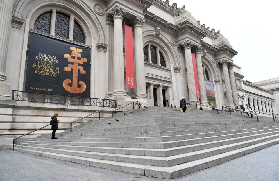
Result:
<instances>
[{"instance_id":1,"label":"grey stone pavement in front of the bottom step","mask_svg":"<svg viewBox=\"0 0 279 181\"><path fill-rule=\"evenodd\" d=\"M278 181L279 144L253 152L246 156L216 165L214 167L183 176L175 181L222 180L222 181ZM0 180L149 180L151 178L132 173L91 167L77 163L56 160L43 156L0 151Z\"/></svg>"}]
</instances>

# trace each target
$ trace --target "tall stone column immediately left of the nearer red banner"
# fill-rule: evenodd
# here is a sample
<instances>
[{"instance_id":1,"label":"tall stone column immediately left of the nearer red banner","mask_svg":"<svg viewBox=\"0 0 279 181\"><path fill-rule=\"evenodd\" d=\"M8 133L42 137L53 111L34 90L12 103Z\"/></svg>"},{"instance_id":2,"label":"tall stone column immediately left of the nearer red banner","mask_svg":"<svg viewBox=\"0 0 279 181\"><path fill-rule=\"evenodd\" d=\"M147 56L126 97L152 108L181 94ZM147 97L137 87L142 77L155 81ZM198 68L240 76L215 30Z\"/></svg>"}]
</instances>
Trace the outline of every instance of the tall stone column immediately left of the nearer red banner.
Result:
<instances>
[{"instance_id":1,"label":"tall stone column immediately left of the nearer red banner","mask_svg":"<svg viewBox=\"0 0 279 181\"><path fill-rule=\"evenodd\" d=\"M126 10L116 6L110 14L113 16L113 93L127 95L124 84L124 59L123 59L123 14Z\"/></svg>"}]
</instances>

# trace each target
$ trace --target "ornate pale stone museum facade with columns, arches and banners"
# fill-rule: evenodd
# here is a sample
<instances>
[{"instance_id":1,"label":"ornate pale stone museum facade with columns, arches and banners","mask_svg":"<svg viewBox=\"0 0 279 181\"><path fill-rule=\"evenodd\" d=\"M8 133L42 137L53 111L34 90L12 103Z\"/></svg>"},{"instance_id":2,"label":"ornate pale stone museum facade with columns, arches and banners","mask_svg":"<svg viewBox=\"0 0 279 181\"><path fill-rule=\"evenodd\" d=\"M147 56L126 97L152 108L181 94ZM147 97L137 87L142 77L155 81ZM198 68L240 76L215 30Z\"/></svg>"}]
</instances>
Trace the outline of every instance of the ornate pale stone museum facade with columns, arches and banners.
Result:
<instances>
[{"instance_id":1,"label":"ornate pale stone museum facade with columns, arches and banners","mask_svg":"<svg viewBox=\"0 0 279 181\"><path fill-rule=\"evenodd\" d=\"M54 112L66 129L96 110L178 107L181 97L189 108L279 112L273 92L243 80L220 31L168 0L0 0L0 18L2 135L39 128Z\"/></svg>"}]
</instances>

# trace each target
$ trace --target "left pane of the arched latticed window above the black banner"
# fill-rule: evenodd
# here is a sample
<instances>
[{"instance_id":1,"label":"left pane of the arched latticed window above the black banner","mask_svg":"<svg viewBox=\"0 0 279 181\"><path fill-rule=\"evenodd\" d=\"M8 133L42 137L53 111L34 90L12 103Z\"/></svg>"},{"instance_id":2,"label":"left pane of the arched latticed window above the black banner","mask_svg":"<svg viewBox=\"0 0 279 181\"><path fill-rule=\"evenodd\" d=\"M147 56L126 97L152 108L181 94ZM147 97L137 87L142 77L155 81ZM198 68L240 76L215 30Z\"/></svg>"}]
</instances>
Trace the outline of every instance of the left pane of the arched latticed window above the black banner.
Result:
<instances>
[{"instance_id":1,"label":"left pane of the arched latticed window above the black banner","mask_svg":"<svg viewBox=\"0 0 279 181\"><path fill-rule=\"evenodd\" d=\"M51 11L41 14L34 23L34 29L40 32L50 32Z\"/></svg>"}]
</instances>

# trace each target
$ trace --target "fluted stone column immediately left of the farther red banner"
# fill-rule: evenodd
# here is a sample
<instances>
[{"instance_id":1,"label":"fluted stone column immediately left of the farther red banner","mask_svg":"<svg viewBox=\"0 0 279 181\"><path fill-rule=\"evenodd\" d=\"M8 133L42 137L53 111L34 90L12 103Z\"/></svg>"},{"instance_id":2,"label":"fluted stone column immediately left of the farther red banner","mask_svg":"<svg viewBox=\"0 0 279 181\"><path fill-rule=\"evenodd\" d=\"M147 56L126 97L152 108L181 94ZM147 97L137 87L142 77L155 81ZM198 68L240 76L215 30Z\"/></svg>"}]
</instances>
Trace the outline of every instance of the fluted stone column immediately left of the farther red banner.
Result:
<instances>
[{"instance_id":1,"label":"fluted stone column immediately left of the farther red banner","mask_svg":"<svg viewBox=\"0 0 279 181\"><path fill-rule=\"evenodd\" d=\"M185 51L185 60L186 60L186 68L187 68L187 80L188 80L188 88L189 88L189 104L196 104L197 96L196 96L196 85L194 78L194 69L191 55L191 46L193 45L190 41L185 41L181 44Z\"/></svg>"}]
</instances>

